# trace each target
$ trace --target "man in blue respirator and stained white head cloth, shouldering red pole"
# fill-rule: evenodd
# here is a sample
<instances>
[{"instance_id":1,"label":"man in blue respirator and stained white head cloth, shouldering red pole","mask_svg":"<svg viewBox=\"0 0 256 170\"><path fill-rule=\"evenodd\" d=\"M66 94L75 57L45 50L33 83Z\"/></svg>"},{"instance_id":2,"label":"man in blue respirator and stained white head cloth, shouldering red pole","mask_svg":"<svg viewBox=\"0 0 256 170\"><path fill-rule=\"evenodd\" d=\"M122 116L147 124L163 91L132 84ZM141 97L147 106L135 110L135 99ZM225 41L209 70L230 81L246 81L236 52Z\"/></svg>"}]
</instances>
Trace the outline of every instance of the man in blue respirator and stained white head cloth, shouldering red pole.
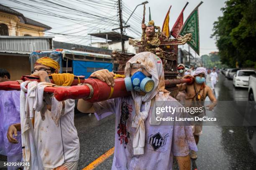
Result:
<instances>
[{"instance_id":1,"label":"man in blue respirator and stained white head cloth, shouldering red pole","mask_svg":"<svg viewBox=\"0 0 256 170\"><path fill-rule=\"evenodd\" d=\"M114 74L99 70L91 75L114 87ZM197 151L190 126L162 125L154 106L159 101L180 105L164 87L164 69L159 57L141 52L125 67L125 86L132 96L102 102L78 102L81 112L95 112L98 120L115 114L115 153L112 170L170 170L176 157L180 170L190 170L189 149ZM168 106L169 107L169 106ZM168 115L168 112L164 112ZM179 113L175 113L177 116Z\"/></svg>"}]
</instances>

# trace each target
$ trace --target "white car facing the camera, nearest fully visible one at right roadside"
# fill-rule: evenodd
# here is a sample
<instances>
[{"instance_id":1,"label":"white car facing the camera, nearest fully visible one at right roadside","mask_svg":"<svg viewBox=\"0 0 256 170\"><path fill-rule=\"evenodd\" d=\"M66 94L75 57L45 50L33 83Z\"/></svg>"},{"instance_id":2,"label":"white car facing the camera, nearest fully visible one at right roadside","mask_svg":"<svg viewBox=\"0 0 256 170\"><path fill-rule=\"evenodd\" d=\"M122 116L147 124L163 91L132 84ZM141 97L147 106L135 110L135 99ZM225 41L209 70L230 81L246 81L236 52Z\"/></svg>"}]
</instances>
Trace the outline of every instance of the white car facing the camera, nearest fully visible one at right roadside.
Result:
<instances>
[{"instance_id":1,"label":"white car facing the camera, nearest fully visible one at right roadside","mask_svg":"<svg viewBox=\"0 0 256 170\"><path fill-rule=\"evenodd\" d=\"M254 70L238 70L233 78L235 87L248 87L250 75L256 75Z\"/></svg>"}]
</instances>

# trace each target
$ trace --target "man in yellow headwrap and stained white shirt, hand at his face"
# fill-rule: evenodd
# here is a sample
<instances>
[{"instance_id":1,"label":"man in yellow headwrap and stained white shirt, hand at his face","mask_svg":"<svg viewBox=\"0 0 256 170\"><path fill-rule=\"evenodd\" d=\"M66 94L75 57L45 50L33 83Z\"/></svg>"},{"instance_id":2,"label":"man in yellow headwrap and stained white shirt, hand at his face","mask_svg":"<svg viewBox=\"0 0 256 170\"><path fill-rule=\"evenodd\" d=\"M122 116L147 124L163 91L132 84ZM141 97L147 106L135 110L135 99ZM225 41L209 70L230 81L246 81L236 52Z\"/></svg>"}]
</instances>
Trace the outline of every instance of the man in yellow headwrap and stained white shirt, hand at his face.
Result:
<instances>
[{"instance_id":1,"label":"man in yellow headwrap and stained white shirt, hand at his face","mask_svg":"<svg viewBox=\"0 0 256 170\"><path fill-rule=\"evenodd\" d=\"M59 69L58 62L49 57L42 57L34 64L31 76L39 77L41 82L51 83L49 79L49 75L51 75L55 84L71 85L74 75L58 74ZM76 170L79 159L79 139L74 126L74 100L65 100L59 102L59 104L62 110L57 119L53 118L57 114L51 110L53 105L47 105L46 112L43 115L42 111L35 112L33 128L36 146L41 156L44 170L53 170L55 168ZM22 131L20 123L10 125L7 134L10 143L18 143L13 135L17 136L17 131L20 130ZM22 141L23 145L25 142Z\"/></svg>"}]
</instances>

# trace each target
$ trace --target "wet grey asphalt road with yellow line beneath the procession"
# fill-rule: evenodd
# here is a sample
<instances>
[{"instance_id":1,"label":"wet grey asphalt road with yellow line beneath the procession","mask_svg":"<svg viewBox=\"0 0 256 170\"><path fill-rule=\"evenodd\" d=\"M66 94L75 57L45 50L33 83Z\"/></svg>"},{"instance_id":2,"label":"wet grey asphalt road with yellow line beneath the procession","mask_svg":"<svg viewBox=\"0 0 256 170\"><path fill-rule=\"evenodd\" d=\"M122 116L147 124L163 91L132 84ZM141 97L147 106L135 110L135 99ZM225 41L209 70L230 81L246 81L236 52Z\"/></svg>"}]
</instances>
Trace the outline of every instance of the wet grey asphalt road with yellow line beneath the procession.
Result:
<instances>
[{"instance_id":1,"label":"wet grey asphalt road with yellow line beneath the procession","mask_svg":"<svg viewBox=\"0 0 256 170\"><path fill-rule=\"evenodd\" d=\"M247 101L248 89L235 89L232 80L227 80L220 73L215 96L218 101ZM232 113L227 112L227 114ZM97 121L93 114L77 112L75 125L80 140L80 159L77 169L81 170L114 147L115 117L111 115ZM197 165L198 170L256 170L255 131L256 127L204 126L198 144L198 158L193 164ZM6 157L0 156L0 161L5 159ZM113 155L95 170L110 170L112 160ZM174 169L178 169L177 165L174 165Z\"/></svg>"}]
</instances>

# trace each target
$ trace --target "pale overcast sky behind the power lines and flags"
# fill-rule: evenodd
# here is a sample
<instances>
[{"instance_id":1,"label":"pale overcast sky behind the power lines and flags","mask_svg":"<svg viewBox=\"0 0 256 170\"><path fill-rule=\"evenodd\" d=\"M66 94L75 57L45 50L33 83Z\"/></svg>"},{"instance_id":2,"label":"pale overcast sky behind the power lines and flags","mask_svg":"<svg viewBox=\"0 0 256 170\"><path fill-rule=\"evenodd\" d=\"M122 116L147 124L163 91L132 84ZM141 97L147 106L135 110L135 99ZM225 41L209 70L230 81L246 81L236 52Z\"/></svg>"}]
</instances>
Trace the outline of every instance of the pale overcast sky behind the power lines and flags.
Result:
<instances>
[{"instance_id":1,"label":"pale overcast sky behind the power lines and flags","mask_svg":"<svg viewBox=\"0 0 256 170\"><path fill-rule=\"evenodd\" d=\"M99 2L98 4L94 4L93 2ZM54 36L54 40L69 42L69 43L77 43L82 45L89 45L90 44L90 36L88 33L95 33L95 32L108 32L111 31L113 28L118 28L118 16L117 16L117 4L116 0L54 0L52 2L59 3L61 5L67 7L73 7L80 11L86 11L88 13L97 13L97 15L104 16L107 18L111 18L110 22L103 22L101 20L97 20L94 18L83 18L82 15L77 16L75 13L72 15L69 12L65 13L65 10L62 10L63 13L59 13L62 16L73 18L79 18L78 21L74 20L67 20L65 18L57 18L54 16L49 15L42 15L38 13L33 13L33 11L38 11L32 9L31 7L26 7L24 5L18 4L18 2L24 2L35 7L42 7L41 10L46 10L47 5L40 5L35 4L35 2L31 2L30 0L23 0L18 2L15 0L1 0L3 5L7 5L17 10L27 18L31 18L36 20L40 23L44 23L52 28L48 32L54 33L72 33L69 36L65 35L56 35L52 33L46 33L48 36ZM126 22L131 12L134 10L136 5L144 2L145 0L123 0L123 20ZM199 4L201 0L148 0L148 4L146 4L146 22L148 22L148 7L151 8L151 19L155 21L155 25L162 26L164 17L169 9L169 6L172 5L170 10L170 22L169 27L172 29L179 13L181 12L182 8L189 2L185 11L184 11L184 22L187 19L188 15L192 12L192 10ZM102 2L102 4L100 4ZM109 3L108 3L109 2ZM218 19L219 16L222 15L220 8L224 7L225 0L204 0L204 3L199 7L199 24L200 24L200 56L204 54L208 54L212 51L218 51L215 40L210 38L212 34L213 23ZM70 4L68 4L70 3ZM18 8L18 9L17 9ZM23 10L21 10L23 9ZM30 10L30 12L25 10ZM52 9L49 8L49 11ZM47 10L46 10L47 11ZM48 12L49 12L48 11ZM54 10L55 11L55 10ZM42 13L42 11L40 11ZM128 21L127 25L131 25L131 28L125 30L127 35L132 37L140 37L141 32L141 20L143 15L143 5L140 5L136 9L136 13L133 14L132 18ZM82 21L90 21L82 22ZM92 23L98 22L98 23ZM101 24L100 24L101 23ZM105 23L108 23L105 25ZM72 37L71 37L72 36ZM77 36L77 37L76 37ZM98 42L100 38L92 37L92 42ZM102 41L102 40L101 40ZM187 45L180 46L183 49L187 49ZM192 52L194 54L194 52Z\"/></svg>"}]
</instances>

